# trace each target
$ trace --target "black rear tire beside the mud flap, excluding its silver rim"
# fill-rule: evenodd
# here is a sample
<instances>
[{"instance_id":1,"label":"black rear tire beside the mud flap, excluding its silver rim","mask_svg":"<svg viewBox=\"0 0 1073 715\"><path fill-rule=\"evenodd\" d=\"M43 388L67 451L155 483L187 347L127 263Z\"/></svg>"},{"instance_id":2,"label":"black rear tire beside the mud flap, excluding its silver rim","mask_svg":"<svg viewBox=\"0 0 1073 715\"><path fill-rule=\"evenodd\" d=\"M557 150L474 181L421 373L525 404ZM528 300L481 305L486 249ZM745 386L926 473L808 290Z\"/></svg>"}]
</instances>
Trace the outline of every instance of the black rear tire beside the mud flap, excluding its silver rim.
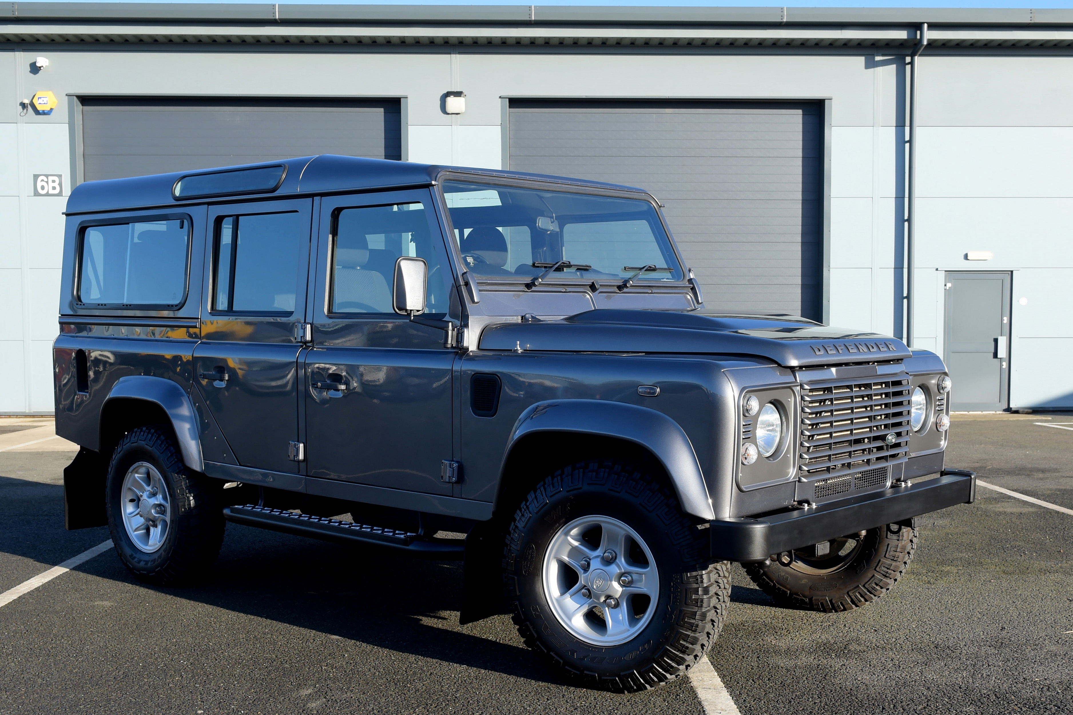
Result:
<instances>
[{"instance_id":1,"label":"black rear tire beside the mud flap, excluding its silver rim","mask_svg":"<svg viewBox=\"0 0 1073 715\"><path fill-rule=\"evenodd\" d=\"M161 426L131 430L116 445L105 487L108 531L120 561L143 581L183 585L202 578L223 543L223 482L189 470L168 430ZM153 553L134 546L122 522L123 478L136 462L152 464L166 482L172 519L163 545Z\"/></svg>"}]
</instances>

